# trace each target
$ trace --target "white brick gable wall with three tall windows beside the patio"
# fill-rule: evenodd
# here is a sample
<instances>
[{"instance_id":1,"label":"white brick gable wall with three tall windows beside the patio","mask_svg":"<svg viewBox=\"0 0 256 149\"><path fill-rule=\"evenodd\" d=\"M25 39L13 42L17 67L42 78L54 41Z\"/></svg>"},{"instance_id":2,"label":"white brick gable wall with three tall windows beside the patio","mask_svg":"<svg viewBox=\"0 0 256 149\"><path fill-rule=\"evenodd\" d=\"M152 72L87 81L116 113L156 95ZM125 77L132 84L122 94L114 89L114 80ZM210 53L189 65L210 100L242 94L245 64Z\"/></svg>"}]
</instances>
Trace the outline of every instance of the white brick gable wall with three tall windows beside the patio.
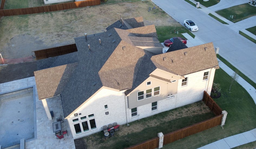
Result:
<instances>
[{"instance_id":1,"label":"white brick gable wall with three tall windows beside the patio","mask_svg":"<svg viewBox=\"0 0 256 149\"><path fill-rule=\"evenodd\" d=\"M79 108L74 113L81 113L81 115L74 116L72 115L68 118L68 123L70 125L73 138L80 138L88 136L90 134L99 132L102 130L102 126L108 125L113 122L117 124L125 124L125 103L124 103L124 92L112 91L109 89L102 89L90 100L88 100L81 108ZM104 108L104 105L108 106L108 109ZM109 115L106 115L105 112L109 112ZM94 117L88 118L88 115L94 114ZM81 120L80 117L87 116L86 120ZM73 119L79 119L78 122L73 123ZM95 119L96 129L91 130L89 120ZM81 122L87 121L89 125L89 131L83 132ZM80 123L82 133L76 134L74 129L74 124Z\"/></svg>"}]
</instances>

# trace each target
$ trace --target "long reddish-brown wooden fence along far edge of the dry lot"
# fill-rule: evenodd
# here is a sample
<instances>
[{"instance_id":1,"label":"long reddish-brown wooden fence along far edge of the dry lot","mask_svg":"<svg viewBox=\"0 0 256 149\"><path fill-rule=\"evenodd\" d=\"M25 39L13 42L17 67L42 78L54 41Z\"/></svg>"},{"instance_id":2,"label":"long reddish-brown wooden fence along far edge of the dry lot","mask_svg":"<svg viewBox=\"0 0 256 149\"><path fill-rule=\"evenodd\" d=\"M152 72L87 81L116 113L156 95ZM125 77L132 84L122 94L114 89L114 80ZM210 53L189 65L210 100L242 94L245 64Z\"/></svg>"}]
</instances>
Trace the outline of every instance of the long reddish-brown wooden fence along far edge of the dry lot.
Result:
<instances>
[{"instance_id":1,"label":"long reddish-brown wooden fence along far edge of the dry lot","mask_svg":"<svg viewBox=\"0 0 256 149\"><path fill-rule=\"evenodd\" d=\"M2 1L5 1L5 0L2 0ZM86 0L86 1L56 4L56 5L31 7L31 8L4 9L4 10L0 10L0 16L28 15L28 14L34 14L34 13L43 13L43 12L81 8L81 7L93 6L93 5L100 5L100 0Z\"/></svg>"}]
</instances>

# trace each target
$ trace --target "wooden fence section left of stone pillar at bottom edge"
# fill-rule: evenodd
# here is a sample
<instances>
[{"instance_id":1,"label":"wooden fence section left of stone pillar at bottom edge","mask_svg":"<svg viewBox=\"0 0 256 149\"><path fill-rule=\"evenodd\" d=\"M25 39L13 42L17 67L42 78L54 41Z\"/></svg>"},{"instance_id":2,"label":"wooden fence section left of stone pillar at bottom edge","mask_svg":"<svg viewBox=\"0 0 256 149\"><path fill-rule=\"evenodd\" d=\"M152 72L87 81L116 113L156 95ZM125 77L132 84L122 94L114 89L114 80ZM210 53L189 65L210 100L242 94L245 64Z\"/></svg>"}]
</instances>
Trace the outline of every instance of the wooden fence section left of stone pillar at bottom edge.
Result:
<instances>
[{"instance_id":1,"label":"wooden fence section left of stone pillar at bottom edge","mask_svg":"<svg viewBox=\"0 0 256 149\"><path fill-rule=\"evenodd\" d=\"M133 145L133 146L128 147L126 149L142 149L142 148L154 149L154 148L158 147L158 144L159 144L159 138L156 137L156 138L147 140L145 142L142 142L140 144Z\"/></svg>"}]
</instances>

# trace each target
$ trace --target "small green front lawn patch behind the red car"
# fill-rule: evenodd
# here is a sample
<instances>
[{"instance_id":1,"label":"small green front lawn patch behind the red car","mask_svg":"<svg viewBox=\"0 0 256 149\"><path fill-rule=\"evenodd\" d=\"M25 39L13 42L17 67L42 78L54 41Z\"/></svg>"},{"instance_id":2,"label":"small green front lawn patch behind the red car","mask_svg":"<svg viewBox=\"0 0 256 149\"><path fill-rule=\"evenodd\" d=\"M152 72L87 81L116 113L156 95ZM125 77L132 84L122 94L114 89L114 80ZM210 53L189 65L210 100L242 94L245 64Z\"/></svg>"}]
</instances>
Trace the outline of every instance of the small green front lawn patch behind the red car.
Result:
<instances>
[{"instance_id":1,"label":"small green front lawn patch behind the red car","mask_svg":"<svg viewBox=\"0 0 256 149\"><path fill-rule=\"evenodd\" d=\"M179 34L174 32L179 32ZM185 26L156 26L156 33L160 43L171 37L182 37L185 38L181 33L188 33L190 36L195 38L195 35L191 33Z\"/></svg>"}]
</instances>

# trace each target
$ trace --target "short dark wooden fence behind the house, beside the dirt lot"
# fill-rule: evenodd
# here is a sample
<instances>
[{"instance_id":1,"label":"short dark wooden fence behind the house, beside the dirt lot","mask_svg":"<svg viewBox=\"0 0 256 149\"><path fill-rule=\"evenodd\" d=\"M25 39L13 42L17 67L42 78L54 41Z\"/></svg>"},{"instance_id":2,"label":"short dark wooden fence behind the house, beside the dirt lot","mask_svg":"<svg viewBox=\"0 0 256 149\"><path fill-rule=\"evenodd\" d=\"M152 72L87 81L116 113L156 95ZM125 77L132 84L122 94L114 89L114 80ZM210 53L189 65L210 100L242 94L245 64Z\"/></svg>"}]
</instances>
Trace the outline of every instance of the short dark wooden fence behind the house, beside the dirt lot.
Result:
<instances>
[{"instance_id":1,"label":"short dark wooden fence behind the house, beside the dirt lot","mask_svg":"<svg viewBox=\"0 0 256 149\"><path fill-rule=\"evenodd\" d=\"M48 48L48 49L43 49L43 50L38 50L33 52L35 53L34 55L35 59L40 60L40 59L59 56L59 55L68 54L76 51L77 51L76 44L70 44L66 46Z\"/></svg>"}]
</instances>

